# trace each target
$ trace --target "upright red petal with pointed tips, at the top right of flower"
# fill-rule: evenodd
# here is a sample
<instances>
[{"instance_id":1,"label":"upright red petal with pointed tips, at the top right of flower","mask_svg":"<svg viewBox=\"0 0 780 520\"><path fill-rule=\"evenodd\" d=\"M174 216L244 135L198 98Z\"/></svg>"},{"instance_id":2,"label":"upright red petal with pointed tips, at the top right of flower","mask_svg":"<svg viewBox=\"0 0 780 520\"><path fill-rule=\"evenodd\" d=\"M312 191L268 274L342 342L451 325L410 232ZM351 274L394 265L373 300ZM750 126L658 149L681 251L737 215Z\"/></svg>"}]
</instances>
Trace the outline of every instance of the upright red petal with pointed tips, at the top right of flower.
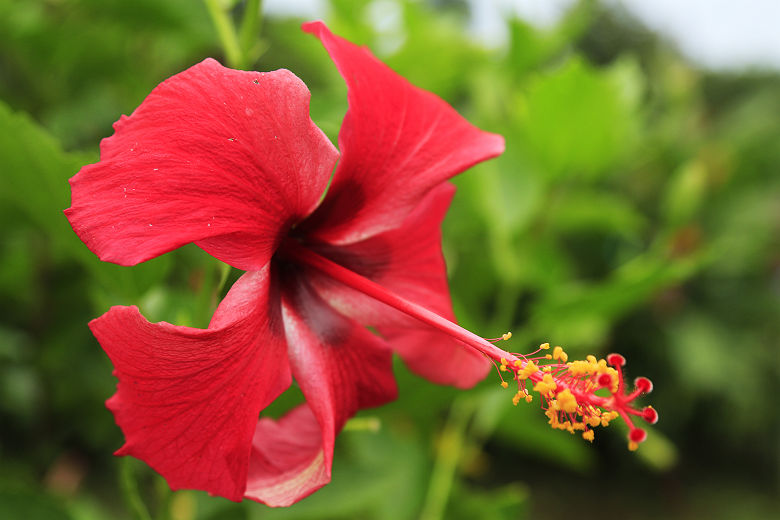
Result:
<instances>
[{"instance_id":1,"label":"upright red petal with pointed tips, at the top right of flower","mask_svg":"<svg viewBox=\"0 0 780 520\"><path fill-rule=\"evenodd\" d=\"M305 223L312 236L343 244L391 229L433 186L503 152L503 137L474 127L368 49L322 22L303 30L322 41L349 99L341 160L325 200Z\"/></svg>"}]
</instances>

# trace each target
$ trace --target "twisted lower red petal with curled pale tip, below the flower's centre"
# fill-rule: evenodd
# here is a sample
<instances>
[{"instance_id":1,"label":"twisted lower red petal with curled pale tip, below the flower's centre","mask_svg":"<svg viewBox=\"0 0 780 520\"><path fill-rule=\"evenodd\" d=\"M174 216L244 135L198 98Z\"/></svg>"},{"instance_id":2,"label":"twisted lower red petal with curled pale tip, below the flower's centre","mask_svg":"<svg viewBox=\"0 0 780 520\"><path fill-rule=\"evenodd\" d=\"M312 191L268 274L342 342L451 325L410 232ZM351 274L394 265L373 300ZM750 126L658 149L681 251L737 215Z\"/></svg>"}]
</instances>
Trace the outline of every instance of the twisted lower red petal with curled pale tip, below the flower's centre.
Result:
<instances>
[{"instance_id":1,"label":"twisted lower red petal with curled pale tip, below the flower's centre","mask_svg":"<svg viewBox=\"0 0 780 520\"><path fill-rule=\"evenodd\" d=\"M380 337L333 310L305 280L295 279L284 295L290 364L307 405L258 424L246 496L273 506L327 484L347 419L397 395L391 351Z\"/></svg>"}]
</instances>

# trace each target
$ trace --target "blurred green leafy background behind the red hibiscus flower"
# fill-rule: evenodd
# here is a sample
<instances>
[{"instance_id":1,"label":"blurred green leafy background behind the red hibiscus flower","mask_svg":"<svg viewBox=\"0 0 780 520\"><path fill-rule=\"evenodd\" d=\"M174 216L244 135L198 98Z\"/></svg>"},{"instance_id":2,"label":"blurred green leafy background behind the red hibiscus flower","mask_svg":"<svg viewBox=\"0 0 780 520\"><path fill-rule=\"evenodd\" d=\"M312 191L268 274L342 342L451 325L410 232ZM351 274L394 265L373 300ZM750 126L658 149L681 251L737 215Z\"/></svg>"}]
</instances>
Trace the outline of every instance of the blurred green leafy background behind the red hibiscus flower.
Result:
<instances>
[{"instance_id":1,"label":"blurred green leafy background behind the red hibiscus flower","mask_svg":"<svg viewBox=\"0 0 780 520\"><path fill-rule=\"evenodd\" d=\"M269 0L253 16L256 0L0 0L0 518L774 517L780 44L760 40L774 4L721 12L721 30L723 2L542 4ZM350 423L333 482L289 509L171 493L112 456L115 379L87 322L136 304L205 326L224 269L194 246L99 262L63 217L67 179L207 56L292 70L336 142L346 89L299 29L311 16L506 137L456 180L456 313L487 337L511 330L514 351L625 355L661 415L638 452L617 425L593 445L552 431L493 374L463 392L399 362L398 401Z\"/></svg>"}]
</instances>

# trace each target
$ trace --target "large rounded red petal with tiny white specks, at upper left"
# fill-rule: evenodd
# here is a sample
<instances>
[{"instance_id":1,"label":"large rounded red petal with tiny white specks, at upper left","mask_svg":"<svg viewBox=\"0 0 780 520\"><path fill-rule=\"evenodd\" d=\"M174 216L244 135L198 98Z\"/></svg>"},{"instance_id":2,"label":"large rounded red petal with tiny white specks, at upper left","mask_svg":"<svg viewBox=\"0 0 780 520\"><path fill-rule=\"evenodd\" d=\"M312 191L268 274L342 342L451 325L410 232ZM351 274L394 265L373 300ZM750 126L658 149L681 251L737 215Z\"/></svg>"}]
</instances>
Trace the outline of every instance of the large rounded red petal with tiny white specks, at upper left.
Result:
<instances>
[{"instance_id":1,"label":"large rounded red petal with tiny white specks, at upper left","mask_svg":"<svg viewBox=\"0 0 780 520\"><path fill-rule=\"evenodd\" d=\"M261 268L317 205L338 156L309 97L289 71L212 59L171 77L71 179L73 229L122 265L197 242L234 267Z\"/></svg>"}]
</instances>

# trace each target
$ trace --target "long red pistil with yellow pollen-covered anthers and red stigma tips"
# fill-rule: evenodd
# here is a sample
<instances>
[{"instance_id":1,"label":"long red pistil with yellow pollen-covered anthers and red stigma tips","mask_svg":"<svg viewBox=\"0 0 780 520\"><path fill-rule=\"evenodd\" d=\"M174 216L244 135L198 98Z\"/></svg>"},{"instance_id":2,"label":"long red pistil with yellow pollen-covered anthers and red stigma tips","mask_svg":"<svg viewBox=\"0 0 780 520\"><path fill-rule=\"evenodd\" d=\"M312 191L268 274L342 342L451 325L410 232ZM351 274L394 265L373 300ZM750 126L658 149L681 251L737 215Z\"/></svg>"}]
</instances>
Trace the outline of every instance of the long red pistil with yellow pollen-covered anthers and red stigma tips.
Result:
<instances>
[{"instance_id":1,"label":"long red pistil with yellow pollen-covered anthers and red stigma tips","mask_svg":"<svg viewBox=\"0 0 780 520\"><path fill-rule=\"evenodd\" d=\"M508 340L511 334L485 339L296 241L285 242L282 250L290 260L313 267L334 280L481 352L499 368L499 375L501 372L512 375L517 386L517 393L513 398L515 405L521 400L531 402L531 394L526 388L528 382L533 391L541 395L542 408L546 410L545 415L553 428L570 433L582 431L582 437L592 442L593 427L607 426L611 420L620 417L629 428L629 449L635 450L647 434L643 429L634 426L630 416L639 416L651 424L658 420L658 413L652 407L638 409L632 406L638 396L652 390L652 383L647 378L637 378L634 390L627 393L623 381L625 358L619 354L610 354L606 360L588 356L583 361L569 362L566 352L558 346L553 349L552 354L540 354L550 348L547 343L527 355L507 352L494 343ZM501 386L509 386L503 377ZM601 391L602 395L597 395L597 391Z\"/></svg>"}]
</instances>

